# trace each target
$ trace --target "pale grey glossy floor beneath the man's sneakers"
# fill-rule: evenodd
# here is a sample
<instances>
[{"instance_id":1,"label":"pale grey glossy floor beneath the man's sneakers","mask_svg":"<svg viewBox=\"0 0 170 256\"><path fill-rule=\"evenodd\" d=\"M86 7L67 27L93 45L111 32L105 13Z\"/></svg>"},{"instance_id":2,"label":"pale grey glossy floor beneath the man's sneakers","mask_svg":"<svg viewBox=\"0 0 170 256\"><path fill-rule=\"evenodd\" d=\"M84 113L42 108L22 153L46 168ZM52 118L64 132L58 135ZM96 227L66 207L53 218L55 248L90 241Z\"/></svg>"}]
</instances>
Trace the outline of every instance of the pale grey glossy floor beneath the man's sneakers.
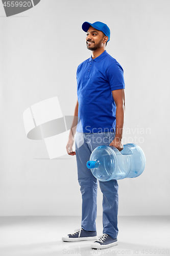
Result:
<instances>
[{"instance_id":1,"label":"pale grey glossy floor beneath the man's sneakers","mask_svg":"<svg viewBox=\"0 0 170 256\"><path fill-rule=\"evenodd\" d=\"M118 217L118 245L90 249L91 241L63 242L80 228L80 217L0 217L0 256L25 255L170 255L170 217ZM102 234L102 217L96 220Z\"/></svg>"}]
</instances>

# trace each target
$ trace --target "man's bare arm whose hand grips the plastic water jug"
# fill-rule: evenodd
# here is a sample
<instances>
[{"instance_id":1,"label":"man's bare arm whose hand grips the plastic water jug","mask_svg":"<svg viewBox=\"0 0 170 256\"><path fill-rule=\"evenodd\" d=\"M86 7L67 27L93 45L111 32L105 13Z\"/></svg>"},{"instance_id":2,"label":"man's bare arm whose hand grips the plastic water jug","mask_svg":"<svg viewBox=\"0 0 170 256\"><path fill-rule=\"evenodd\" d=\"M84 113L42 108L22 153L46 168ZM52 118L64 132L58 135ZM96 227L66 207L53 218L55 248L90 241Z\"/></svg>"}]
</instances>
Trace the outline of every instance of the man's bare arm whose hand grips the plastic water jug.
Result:
<instances>
[{"instance_id":1,"label":"man's bare arm whose hand grips the plastic water jug","mask_svg":"<svg viewBox=\"0 0 170 256\"><path fill-rule=\"evenodd\" d=\"M125 89L112 91L112 95L116 104L116 131L115 138L110 143L110 146L114 146L121 151L124 148L122 138L125 120Z\"/></svg>"}]
</instances>

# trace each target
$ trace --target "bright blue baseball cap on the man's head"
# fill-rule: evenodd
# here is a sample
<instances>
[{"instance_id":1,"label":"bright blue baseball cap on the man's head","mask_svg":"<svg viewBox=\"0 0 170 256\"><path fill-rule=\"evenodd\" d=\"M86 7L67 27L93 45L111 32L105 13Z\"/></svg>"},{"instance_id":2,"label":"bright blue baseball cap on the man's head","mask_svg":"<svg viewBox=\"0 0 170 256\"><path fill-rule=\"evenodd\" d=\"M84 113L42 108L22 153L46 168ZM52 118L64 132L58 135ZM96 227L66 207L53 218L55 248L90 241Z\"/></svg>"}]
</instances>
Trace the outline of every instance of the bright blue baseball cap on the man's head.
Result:
<instances>
[{"instance_id":1,"label":"bright blue baseball cap on the man's head","mask_svg":"<svg viewBox=\"0 0 170 256\"><path fill-rule=\"evenodd\" d=\"M108 36L108 41L110 40L110 29L109 27L102 22L94 22L94 23L89 23L89 22L84 22L82 25L82 29L87 32L89 27L93 27L94 29L102 31L106 36Z\"/></svg>"}]
</instances>

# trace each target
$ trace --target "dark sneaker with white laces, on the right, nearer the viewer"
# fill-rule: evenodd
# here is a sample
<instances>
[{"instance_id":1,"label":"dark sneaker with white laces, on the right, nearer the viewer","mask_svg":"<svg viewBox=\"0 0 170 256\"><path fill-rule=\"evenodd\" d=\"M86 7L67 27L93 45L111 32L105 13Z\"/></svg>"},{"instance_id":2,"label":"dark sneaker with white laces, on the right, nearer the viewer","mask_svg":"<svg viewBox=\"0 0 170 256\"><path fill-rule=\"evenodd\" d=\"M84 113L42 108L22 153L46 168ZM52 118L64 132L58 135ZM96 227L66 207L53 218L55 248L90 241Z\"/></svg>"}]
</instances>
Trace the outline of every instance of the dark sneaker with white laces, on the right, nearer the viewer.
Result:
<instances>
[{"instance_id":1,"label":"dark sneaker with white laces, on the right, nearer the viewer","mask_svg":"<svg viewBox=\"0 0 170 256\"><path fill-rule=\"evenodd\" d=\"M106 249L114 245L117 245L117 238L113 239L109 234L103 234L101 238L92 243L91 248Z\"/></svg>"}]
</instances>

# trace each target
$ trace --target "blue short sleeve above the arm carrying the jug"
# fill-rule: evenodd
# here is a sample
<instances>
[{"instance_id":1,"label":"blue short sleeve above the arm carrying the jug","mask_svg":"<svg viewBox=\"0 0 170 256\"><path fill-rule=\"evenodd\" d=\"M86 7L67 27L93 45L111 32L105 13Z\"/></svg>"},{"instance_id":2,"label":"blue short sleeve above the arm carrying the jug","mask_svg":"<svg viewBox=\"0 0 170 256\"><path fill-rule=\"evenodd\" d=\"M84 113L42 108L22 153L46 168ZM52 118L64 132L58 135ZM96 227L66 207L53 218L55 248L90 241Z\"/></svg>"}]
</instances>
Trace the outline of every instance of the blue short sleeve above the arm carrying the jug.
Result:
<instances>
[{"instance_id":1,"label":"blue short sleeve above the arm carrying the jug","mask_svg":"<svg viewBox=\"0 0 170 256\"><path fill-rule=\"evenodd\" d=\"M124 70L117 61L109 66L106 74L112 91L125 89Z\"/></svg>"}]
</instances>

